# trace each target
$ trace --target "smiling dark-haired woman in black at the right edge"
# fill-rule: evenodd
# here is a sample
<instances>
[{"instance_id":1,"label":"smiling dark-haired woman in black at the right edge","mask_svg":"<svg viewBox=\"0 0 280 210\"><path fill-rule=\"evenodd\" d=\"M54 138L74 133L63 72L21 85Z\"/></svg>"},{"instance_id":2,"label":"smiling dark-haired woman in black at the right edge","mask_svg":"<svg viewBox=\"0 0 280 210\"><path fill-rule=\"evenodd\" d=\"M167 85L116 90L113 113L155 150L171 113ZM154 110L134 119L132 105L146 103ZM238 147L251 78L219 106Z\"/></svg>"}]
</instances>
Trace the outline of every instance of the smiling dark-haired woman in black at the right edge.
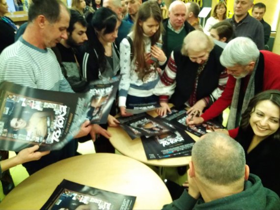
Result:
<instances>
[{"instance_id":1,"label":"smiling dark-haired woman in black at the right edge","mask_svg":"<svg viewBox=\"0 0 280 210\"><path fill-rule=\"evenodd\" d=\"M280 195L280 91L256 94L242 115L236 140L246 154L250 173Z\"/></svg>"}]
</instances>

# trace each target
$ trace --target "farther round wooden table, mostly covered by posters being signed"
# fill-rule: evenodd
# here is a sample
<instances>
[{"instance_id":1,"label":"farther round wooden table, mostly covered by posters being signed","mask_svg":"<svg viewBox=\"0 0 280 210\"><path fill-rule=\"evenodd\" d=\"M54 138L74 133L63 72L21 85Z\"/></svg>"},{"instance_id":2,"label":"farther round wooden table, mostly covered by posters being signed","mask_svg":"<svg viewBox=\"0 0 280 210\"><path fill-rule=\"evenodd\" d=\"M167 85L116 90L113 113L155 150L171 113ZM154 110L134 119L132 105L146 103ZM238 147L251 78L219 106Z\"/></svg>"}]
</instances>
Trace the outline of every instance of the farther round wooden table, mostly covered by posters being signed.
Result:
<instances>
[{"instance_id":1,"label":"farther round wooden table, mostly covered by posters being signed","mask_svg":"<svg viewBox=\"0 0 280 210\"><path fill-rule=\"evenodd\" d=\"M147 113L152 117L157 116L155 111L150 111ZM112 135L109 140L116 150L128 157L139 160L142 163L162 167L176 167L188 165L189 161L191 160L191 156L148 160L140 138L132 140L121 127L108 127L108 131ZM187 133L194 140L198 139L196 135L193 135L189 132Z\"/></svg>"}]
</instances>

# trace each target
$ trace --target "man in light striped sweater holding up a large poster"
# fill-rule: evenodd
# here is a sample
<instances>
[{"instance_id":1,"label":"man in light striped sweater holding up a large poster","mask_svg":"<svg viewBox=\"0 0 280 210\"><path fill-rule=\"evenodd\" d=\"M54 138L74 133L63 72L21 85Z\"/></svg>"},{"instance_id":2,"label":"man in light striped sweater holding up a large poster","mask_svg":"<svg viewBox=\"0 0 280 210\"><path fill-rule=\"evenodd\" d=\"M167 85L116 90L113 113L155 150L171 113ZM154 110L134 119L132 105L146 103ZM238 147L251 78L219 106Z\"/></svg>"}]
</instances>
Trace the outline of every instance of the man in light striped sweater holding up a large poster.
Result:
<instances>
[{"instance_id":1,"label":"man in light striped sweater holding up a large poster","mask_svg":"<svg viewBox=\"0 0 280 210\"><path fill-rule=\"evenodd\" d=\"M0 82L9 81L30 88L73 92L50 49L61 39L67 39L69 20L69 11L62 1L33 0L24 34L0 55ZM95 132L109 136L100 126L89 125L89 121L85 121L76 138L89 132L92 136ZM61 150L51 151L40 160L23 165L31 175L56 161L74 156L75 144L75 141L70 141Z\"/></svg>"}]
</instances>

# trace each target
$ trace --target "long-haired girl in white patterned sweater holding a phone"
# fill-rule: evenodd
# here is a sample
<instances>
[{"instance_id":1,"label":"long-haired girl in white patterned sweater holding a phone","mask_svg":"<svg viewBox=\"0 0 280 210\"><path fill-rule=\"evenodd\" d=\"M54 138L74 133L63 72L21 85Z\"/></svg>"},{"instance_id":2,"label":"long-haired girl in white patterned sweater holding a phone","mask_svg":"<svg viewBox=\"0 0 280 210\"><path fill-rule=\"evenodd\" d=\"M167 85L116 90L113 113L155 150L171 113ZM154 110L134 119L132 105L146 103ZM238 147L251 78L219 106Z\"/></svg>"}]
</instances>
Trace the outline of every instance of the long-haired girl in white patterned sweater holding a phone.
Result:
<instances>
[{"instance_id":1,"label":"long-haired girl in white patterned sweater holding a phone","mask_svg":"<svg viewBox=\"0 0 280 210\"><path fill-rule=\"evenodd\" d=\"M167 60L161 48L156 46L161 41L161 21L161 10L157 2L144 2L139 8L136 23L128 34L128 39L124 38L120 43L122 77L119 85L119 107L122 116L130 115L126 112L126 107L133 109L135 106L158 103L158 96L153 95L153 89L159 80L156 62L163 65Z\"/></svg>"}]
</instances>

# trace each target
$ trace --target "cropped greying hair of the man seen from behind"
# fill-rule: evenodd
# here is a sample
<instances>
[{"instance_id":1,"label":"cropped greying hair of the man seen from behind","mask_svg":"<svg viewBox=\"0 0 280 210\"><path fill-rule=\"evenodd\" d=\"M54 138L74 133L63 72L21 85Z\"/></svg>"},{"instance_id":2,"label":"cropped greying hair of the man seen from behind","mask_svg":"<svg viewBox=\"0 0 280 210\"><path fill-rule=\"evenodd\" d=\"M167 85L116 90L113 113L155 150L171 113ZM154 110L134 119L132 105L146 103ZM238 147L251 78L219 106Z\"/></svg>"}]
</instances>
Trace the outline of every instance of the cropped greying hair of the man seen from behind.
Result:
<instances>
[{"instance_id":1,"label":"cropped greying hair of the man seen from behind","mask_svg":"<svg viewBox=\"0 0 280 210\"><path fill-rule=\"evenodd\" d=\"M202 181L228 185L245 175L245 151L234 139L219 132L208 133L194 144L192 161Z\"/></svg>"}]
</instances>

